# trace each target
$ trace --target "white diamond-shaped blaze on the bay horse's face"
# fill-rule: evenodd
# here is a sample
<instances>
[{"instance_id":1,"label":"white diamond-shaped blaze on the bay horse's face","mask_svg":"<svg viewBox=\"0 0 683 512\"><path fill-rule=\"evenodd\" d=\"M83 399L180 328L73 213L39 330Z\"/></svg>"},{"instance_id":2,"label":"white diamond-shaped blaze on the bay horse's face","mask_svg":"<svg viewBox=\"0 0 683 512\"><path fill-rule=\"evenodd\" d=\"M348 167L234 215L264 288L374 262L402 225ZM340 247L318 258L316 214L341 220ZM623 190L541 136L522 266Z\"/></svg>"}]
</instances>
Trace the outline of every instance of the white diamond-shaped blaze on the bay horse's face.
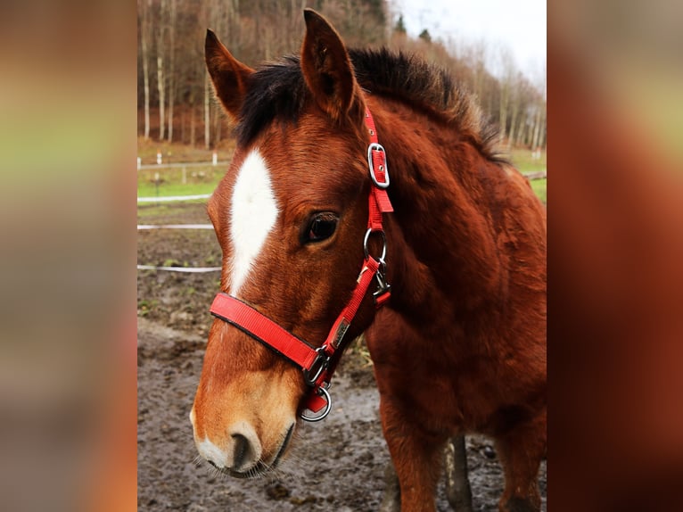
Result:
<instances>
[{"instance_id":1,"label":"white diamond-shaped blaze on the bay horse's face","mask_svg":"<svg viewBox=\"0 0 683 512\"><path fill-rule=\"evenodd\" d=\"M236 296L278 215L266 161L257 149L247 155L237 174L230 214L233 244L230 292Z\"/></svg>"}]
</instances>

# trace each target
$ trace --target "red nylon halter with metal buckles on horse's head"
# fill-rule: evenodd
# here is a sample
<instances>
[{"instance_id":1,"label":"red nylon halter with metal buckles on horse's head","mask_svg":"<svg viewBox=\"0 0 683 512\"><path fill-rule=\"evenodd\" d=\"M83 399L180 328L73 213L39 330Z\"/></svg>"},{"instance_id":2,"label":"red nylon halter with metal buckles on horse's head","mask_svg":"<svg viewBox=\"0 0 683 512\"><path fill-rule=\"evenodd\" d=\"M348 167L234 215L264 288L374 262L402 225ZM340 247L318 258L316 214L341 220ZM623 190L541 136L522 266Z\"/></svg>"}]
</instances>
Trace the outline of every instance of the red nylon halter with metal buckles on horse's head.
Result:
<instances>
[{"instance_id":1,"label":"red nylon halter with metal buckles on horse's head","mask_svg":"<svg viewBox=\"0 0 683 512\"><path fill-rule=\"evenodd\" d=\"M289 360L301 368L306 384L311 388L304 401L304 410L300 416L307 421L320 421L332 409L332 400L327 389L334 373L334 369L342 357L342 352L350 342L344 340L344 334L349 330L351 321L358 312L358 307L366 296L367 289L373 282L377 282L377 290L373 293L375 306L379 309L389 299L391 286L386 281L386 236L382 226L382 214L393 211L389 195L389 172L387 170L386 152L377 139L373 116L366 108L366 128L370 135L367 146L367 165L372 179L371 191L368 199L367 231L363 240L365 260L358 276L358 283L351 295L350 301L337 317L327 339L320 347L314 347L301 340L294 334L278 326L273 320L259 313L249 304L240 301L227 293L218 293L211 304L211 314L249 334L259 343L263 343L284 359ZM382 237L383 249L378 258L374 258L367 248L372 235ZM315 417L306 416L305 410L322 413Z\"/></svg>"}]
</instances>

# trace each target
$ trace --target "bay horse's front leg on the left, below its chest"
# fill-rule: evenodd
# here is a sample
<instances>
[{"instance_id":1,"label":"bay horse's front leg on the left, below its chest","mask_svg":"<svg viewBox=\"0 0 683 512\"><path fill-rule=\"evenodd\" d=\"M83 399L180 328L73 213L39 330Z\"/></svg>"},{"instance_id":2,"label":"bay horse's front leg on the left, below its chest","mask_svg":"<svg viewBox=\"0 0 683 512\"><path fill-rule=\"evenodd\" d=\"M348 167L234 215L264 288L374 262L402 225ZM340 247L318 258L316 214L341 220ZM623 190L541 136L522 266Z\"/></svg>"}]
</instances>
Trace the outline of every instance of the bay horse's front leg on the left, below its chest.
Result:
<instances>
[{"instance_id":1,"label":"bay horse's front leg on the left, below its chest","mask_svg":"<svg viewBox=\"0 0 683 512\"><path fill-rule=\"evenodd\" d=\"M384 397L380 412L384 438L399 476L401 512L434 512L440 450L445 438L424 432Z\"/></svg>"}]
</instances>

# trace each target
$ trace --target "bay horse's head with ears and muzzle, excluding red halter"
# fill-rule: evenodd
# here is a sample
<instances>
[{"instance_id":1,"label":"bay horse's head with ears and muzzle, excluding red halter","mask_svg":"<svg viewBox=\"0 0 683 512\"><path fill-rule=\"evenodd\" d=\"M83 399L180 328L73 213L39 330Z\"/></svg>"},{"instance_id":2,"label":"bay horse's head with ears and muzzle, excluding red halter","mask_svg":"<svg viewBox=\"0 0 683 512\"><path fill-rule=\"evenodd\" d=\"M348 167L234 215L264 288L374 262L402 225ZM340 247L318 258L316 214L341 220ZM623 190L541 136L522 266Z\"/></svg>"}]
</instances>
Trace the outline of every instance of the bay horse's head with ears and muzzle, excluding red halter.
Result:
<instances>
[{"instance_id":1,"label":"bay horse's head with ears and muzzle, excluding red halter","mask_svg":"<svg viewBox=\"0 0 683 512\"><path fill-rule=\"evenodd\" d=\"M371 181L366 104L347 49L316 12L305 20L294 68L252 70L208 31L207 67L237 133L208 211L221 290L316 348L359 279ZM347 338L372 322L372 294L362 299ZM310 392L299 367L254 337L214 321L190 413L202 457L235 476L276 467Z\"/></svg>"}]
</instances>

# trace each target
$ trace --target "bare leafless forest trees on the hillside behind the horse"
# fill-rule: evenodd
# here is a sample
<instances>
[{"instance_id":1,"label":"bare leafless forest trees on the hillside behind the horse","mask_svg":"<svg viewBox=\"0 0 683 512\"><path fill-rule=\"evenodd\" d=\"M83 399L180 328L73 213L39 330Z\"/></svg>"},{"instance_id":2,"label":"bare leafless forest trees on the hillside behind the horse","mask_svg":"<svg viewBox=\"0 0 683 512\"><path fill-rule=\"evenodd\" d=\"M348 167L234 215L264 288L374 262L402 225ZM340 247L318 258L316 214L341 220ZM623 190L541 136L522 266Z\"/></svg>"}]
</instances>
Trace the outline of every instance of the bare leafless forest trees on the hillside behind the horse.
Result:
<instances>
[{"instance_id":1,"label":"bare leafless forest trees on the hillside behind the horse","mask_svg":"<svg viewBox=\"0 0 683 512\"><path fill-rule=\"evenodd\" d=\"M507 149L545 148L545 63L541 77L529 77L505 45L432 39L428 28L410 37L402 13L386 0L138 0L137 131L142 144L229 148L230 130L212 100L204 66L206 29L254 67L298 52L306 7L332 21L347 45L414 52L450 70L498 121Z\"/></svg>"}]
</instances>

